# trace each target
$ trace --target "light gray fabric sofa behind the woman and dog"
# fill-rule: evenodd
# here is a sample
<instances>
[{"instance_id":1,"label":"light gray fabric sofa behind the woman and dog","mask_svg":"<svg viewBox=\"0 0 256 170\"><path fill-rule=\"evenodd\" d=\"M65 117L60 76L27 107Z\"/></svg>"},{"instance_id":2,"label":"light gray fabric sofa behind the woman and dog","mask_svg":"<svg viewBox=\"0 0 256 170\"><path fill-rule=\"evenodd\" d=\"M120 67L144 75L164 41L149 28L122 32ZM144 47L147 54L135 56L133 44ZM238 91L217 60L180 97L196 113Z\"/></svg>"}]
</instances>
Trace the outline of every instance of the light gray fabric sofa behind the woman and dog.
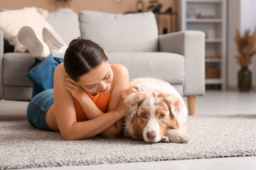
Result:
<instances>
[{"instance_id":1,"label":"light gray fabric sofa behind the woman and dog","mask_svg":"<svg viewBox=\"0 0 256 170\"><path fill-rule=\"evenodd\" d=\"M67 45L78 37L97 42L106 50L110 63L127 67L131 79L158 77L168 81L183 96L188 96L188 108L193 115L195 96L205 93L205 39L201 31L158 35L151 12L124 15L81 11L78 15L73 11L56 11L46 20ZM21 112L26 116L32 83L24 74L34 58L29 53L8 49L10 46L0 30L1 103L8 109L14 107L8 102L25 101Z\"/></svg>"}]
</instances>

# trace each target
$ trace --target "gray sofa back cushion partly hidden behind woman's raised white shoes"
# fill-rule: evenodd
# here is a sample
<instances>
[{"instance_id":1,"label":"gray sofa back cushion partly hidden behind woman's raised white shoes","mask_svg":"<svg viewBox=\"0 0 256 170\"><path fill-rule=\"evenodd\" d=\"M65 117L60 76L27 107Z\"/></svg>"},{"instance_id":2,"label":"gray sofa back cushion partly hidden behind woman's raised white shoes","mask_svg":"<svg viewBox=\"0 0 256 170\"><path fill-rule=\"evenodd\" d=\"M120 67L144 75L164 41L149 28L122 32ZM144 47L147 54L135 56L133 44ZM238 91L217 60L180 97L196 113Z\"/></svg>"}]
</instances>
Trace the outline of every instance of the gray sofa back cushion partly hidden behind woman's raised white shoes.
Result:
<instances>
[{"instance_id":1,"label":"gray sofa back cushion partly hidden behind woman's raised white shoes","mask_svg":"<svg viewBox=\"0 0 256 170\"><path fill-rule=\"evenodd\" d=\"M46 21L68 45L71 40L81 36L78 14L72 10L49 13Z\"/></svg>"}]
</instances>

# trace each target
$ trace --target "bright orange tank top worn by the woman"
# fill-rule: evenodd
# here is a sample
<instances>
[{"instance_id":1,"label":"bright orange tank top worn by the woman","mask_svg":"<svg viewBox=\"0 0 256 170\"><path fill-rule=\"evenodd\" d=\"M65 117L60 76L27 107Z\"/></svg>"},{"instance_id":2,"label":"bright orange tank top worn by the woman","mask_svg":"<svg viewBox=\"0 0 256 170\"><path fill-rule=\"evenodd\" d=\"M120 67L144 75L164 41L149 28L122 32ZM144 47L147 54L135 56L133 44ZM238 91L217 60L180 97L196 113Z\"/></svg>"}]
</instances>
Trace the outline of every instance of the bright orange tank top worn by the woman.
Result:
<instances>
[{"instance_id":1,"label":"bright orange tank top worn by the woman","mask_svg":"<svg viewBox=\"0 0 256 170\"><path fill-rule=\"evenodd\" d=\"M107 91L105 94L97 94L96 96L91 96L87 91L85 92L92 99L93 103L95 103L95 105L100 108L100 111L107 113L108 103L110 101L110 91ZM88 120L85 112L82 110L82 106L80 106L80 103L75 98L74 103L77 121L82 122ZM55 112L54 106L53 111Z\"/></svg>"}]
</instances>

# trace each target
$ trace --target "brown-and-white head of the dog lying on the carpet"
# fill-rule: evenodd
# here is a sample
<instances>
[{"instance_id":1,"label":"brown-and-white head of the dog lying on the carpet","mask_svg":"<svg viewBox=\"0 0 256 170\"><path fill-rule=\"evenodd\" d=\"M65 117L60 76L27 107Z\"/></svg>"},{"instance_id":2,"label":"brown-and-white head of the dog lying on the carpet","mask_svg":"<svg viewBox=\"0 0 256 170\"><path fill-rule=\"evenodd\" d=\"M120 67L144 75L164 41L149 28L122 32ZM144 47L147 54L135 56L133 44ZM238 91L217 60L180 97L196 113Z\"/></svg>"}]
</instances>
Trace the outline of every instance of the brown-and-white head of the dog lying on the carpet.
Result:
<instances>
[{"instance_id":1,"label":"brown-and-white head of the dog lying on the carpet","mask_svg":"<svg viewBox=\"0 0 256 170\"><path fill-rule=\"evenodd\" d=\"M128 108L125 133L134 139L159 142L169 129L178 128L181 98L173 94L137 92L124 101Z\"/></svg>"}]
</instances>

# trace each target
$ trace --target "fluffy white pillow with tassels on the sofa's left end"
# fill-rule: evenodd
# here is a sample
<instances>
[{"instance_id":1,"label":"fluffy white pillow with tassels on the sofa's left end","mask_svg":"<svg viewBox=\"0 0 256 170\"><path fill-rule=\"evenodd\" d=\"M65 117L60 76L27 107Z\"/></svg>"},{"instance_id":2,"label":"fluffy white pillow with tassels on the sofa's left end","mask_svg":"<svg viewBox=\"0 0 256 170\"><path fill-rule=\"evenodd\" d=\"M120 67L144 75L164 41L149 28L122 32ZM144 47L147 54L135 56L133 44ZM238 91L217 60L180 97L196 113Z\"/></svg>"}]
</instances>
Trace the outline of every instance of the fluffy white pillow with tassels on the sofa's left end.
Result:
<instances>
[{"instance_id":1,"label":"fluffy white pillow with tassels on the sofa's left end","mask_svg":"<svg viewBox=\"0 0 256 170\"><path fill-rule=\"evenodd\" d=\"M8 40L10 45L14 45L14 52L26 52L28 48L18 42L17 34L23 26L30 26L42 38L42 30L44 27L52 30L52 32L60 38L53 30L44 17L48 12L40 9L38 13L35 7L23 8L18 10L3 11L0 13L0 29L4 32L4 38ZM60 38L62 40L62 38ZM64 41L63 41L64 42Z\"/></svg>"}]
</instances>

